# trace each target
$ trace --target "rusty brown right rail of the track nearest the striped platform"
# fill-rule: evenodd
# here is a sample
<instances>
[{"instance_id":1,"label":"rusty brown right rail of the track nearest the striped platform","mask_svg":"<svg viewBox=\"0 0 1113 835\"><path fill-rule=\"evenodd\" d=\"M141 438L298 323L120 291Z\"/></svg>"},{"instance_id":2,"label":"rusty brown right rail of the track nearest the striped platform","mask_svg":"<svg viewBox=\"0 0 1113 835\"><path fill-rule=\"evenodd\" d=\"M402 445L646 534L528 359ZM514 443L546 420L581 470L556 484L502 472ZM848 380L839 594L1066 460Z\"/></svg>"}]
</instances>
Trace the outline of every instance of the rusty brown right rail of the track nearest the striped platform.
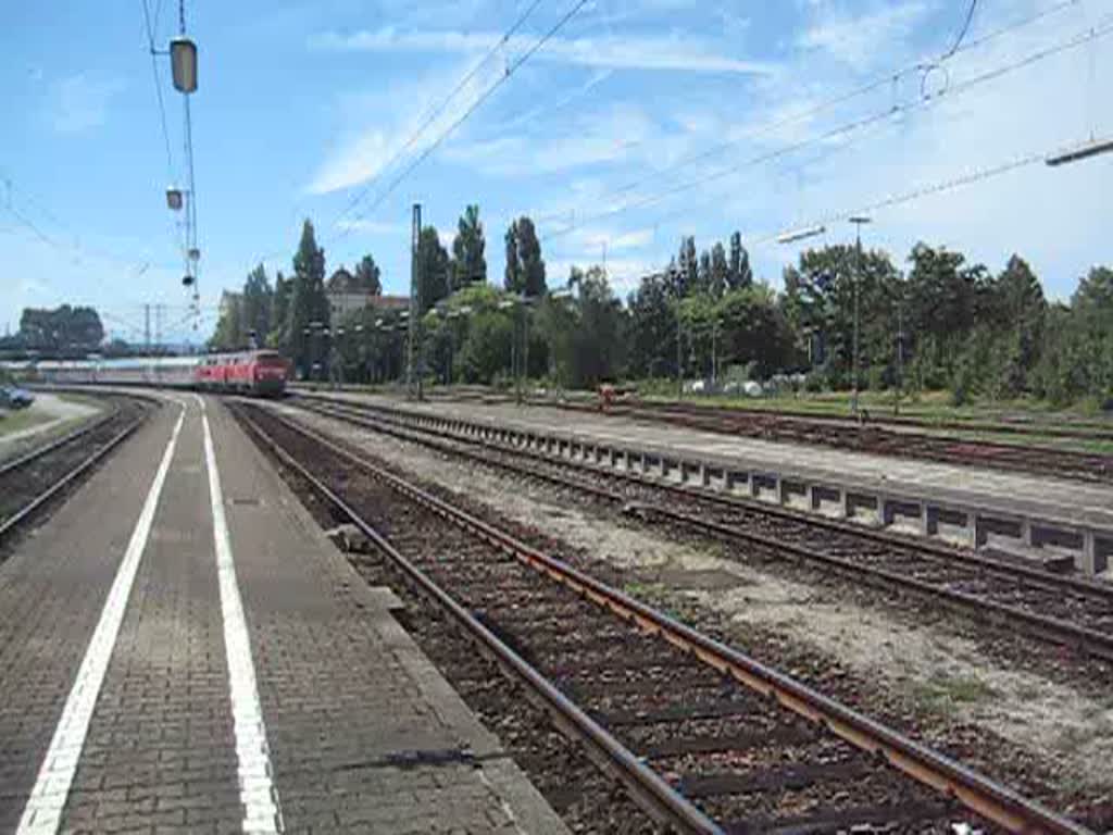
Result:
<instances>
[{"instance_id":1,"label":"rusty brown right rail of the track nearest the striped platform","mask_svg":"<svg viewBox=\"0 0 1113 835\"><path fill-rule=\"evenodd\" d=\"M644 631L659 635L673 646L691 654L723 675L731 676L761 696L776 699L778 704L800 717L823 725L857 748L883 757L893 767L925 786L956 798L983 818L1016 833L1041 832L1083 835L1090 832L1082 825L1047 809L1042 804L1022 797L1007 786L996 783L853 708L824 696L784 672L702 635L692 627L634 600L627 593L607 586L562 560L542 553L510 533L453 507L401 477L358 458L319 433L278 414L272 414L290 431L324 446L372 478L394 488L415 503L444 519L452 520L463 530L471 531L481 539L502 548L508 554L609 609L618 617L637 623Z\"/></svg>"}]
</instances>

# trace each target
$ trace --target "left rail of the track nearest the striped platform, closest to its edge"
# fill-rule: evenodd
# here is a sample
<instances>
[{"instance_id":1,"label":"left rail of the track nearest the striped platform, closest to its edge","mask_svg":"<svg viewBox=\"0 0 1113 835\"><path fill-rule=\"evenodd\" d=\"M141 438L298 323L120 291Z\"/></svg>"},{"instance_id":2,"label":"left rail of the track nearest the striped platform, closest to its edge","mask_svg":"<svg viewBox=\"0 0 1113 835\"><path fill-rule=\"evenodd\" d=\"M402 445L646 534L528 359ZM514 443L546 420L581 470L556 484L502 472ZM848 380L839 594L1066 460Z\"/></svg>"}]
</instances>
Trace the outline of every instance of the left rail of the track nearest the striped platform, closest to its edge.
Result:
<instances>
[{"instance_id":1,"label":"left rail of the track nearest the striped platform, closest to its edge","mask_svg":"<svg viewBox=\"0 0 1113 835\"><path fill-rule=\"evenodd\" d=\"M682 833L708 833L720 834L722 829L707 815L698 809L689 799L679 794L656 772L646 766L629 748L609 734L588 714L580 709L567 696L549 681L532 665L511 649L490 629L481 623L470 611L462 607L456 600L437 586L425 572L407 560L397 549L395 549L373 525L368 524L359 514L323 481L315 477L301 462L282 449L262 426L242 410L237 410L239 416L250 429L255 436L269 449L284 465L295 471L302 479L332 503L359 531L366 536L375 547L388 557L425 595L431 597L442 608L446 609L464 629L475 638L485 650L494 657L498 664L505 670L522 680L526 688L532 691L540 705L553 716L558 727L565 730L565 735L574 736L588 745L589 752L593 753L592 759L602 766L607 773L614 776L634 797L646 812L660 823L669 824ZM273 415L294 431L299 429L293 426L278 415ZM318 439L309 436L312 440ZM325 442L327 444L327 442ZM357 462L358 463L358 462ZM366 466L359 463L361 468ZM450 521L454 521L451 520ZM500 542L492 541L492 544L502 547Z\"/></svg>"}]
</instances>

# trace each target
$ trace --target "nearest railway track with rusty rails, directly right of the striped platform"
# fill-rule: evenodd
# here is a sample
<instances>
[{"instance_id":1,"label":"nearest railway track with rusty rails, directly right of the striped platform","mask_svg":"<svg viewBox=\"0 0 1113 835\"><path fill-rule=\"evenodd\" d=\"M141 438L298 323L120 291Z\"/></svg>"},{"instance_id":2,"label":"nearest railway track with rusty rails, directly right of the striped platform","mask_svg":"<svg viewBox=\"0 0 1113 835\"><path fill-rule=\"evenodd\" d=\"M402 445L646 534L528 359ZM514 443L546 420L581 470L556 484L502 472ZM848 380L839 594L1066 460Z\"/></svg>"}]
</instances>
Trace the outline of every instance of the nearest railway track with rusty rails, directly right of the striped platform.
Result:
<instances>
[{"instance_id":1,"label":"nearest railway track with rusty rails, directly right of the striped platform","mask_svg":"<svg viewBox=\"0 0 1113 835\"><path fill-rule=\"evenodd\" d=\"M674 832L1078 824L254 404L257 442Z\"/></svg>"}]
</instances>

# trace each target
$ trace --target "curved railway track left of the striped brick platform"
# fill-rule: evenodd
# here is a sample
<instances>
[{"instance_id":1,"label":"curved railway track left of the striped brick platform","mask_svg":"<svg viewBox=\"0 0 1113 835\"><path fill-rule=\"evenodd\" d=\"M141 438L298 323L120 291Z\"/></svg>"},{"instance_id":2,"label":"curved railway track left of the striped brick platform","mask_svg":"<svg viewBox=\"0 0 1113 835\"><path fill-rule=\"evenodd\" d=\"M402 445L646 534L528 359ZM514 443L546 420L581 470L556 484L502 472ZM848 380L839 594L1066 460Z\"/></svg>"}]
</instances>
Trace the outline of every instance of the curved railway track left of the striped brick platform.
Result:
<instances>
[{"instance_id":1,"label":"curved railway track left of the striped brick platform","mask_svg":"<svg viewBox=\"0 0 1113 835\"><path fill-rule=\"evenodd\" d=\"M148 409L112 397L108 414L0 466L0 544L77 483L146 419Z\"/></svg>"}]
</instances>

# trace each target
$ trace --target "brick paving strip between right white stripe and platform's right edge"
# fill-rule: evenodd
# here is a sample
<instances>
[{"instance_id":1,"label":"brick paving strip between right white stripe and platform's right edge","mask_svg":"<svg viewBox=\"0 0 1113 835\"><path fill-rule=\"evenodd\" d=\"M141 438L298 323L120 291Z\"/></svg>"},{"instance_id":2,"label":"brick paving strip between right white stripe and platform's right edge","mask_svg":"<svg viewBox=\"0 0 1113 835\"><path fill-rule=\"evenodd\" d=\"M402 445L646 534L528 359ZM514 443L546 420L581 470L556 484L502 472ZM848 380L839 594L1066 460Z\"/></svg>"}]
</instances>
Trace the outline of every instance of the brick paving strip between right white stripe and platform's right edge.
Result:
<instances>
[{"instance_id":1,"label":"brick paving strip between right white stripe and platform's right edge","mask_svg":"<svg viewBox=\"0 0 1113 835\"><path fill-rule=\"evenodd\" d=\"M287 829L564 832L239 428L214 423Z\"/></svg>"}]
</instances>

